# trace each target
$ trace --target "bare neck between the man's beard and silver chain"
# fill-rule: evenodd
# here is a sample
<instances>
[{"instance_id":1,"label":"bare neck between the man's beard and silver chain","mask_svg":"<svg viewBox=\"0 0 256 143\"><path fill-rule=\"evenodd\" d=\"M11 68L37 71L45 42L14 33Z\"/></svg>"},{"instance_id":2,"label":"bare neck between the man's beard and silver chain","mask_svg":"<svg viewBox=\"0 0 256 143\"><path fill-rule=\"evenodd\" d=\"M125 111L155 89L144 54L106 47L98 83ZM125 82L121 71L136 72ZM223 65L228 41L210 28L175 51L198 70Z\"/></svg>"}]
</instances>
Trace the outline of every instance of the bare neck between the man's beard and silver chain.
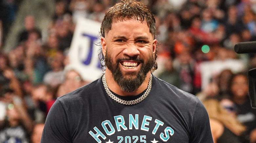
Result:
<instances>
[{"instance_id":1,"label":"bare neck between the man's beard and silver chain","mask_svg":"<svg viewBox=\"0 0 256 143\"><path fill-rule=\"evenodd\" d=\"M143 92L148 87L151 72L149 71L146 75L143 83L134 92L126 92L121 90L117 82L114 80L112 72L106 68L105 77L108 84L108 88L120 96L134 96Z\"/></svg>"}]
</instances>

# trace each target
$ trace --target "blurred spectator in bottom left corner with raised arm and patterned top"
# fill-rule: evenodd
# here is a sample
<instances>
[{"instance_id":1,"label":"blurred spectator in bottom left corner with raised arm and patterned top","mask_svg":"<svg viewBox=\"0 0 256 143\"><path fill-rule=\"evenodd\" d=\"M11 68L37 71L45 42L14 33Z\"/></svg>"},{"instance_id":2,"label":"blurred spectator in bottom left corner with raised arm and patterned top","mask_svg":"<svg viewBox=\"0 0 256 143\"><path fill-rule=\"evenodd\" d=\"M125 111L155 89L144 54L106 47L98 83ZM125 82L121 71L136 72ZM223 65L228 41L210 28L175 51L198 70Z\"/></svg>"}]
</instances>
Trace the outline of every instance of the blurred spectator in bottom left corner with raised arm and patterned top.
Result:
<instances>
[{"instance_id":1,"label":"blurred spectator in bottom left corner with raised arm and patterned top","mask_svg":"<svg viewBox=\"0 0 256 143\"><path fill-rule=\"evenodd\" d=\"M28 137L32 132L33 123L22 100L10 89L5 91L4 98L8 109L3 128L0 128L0 142L29 143Z\"/></svg>"}]
</instances>

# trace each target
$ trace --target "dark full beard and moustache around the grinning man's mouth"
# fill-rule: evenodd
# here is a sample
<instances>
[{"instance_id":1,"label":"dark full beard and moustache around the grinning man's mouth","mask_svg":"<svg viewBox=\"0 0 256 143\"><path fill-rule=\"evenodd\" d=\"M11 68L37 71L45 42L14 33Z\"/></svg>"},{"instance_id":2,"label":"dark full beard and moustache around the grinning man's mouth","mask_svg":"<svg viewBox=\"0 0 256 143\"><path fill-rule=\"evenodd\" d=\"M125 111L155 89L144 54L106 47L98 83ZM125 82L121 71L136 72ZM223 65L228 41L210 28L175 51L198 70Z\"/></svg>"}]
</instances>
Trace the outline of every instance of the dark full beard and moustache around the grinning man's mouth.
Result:
<instances>
[{"instance_id":1,"label":"dark full beard and moustache around the grinning man's mouth","mask_svg":"<svg viewBox=\"0 0 256 143\"><path fill-rule=\"evenodd\" d=\"M129 72L129 73L122 73L120 69L120 61L122 60L134 60L140 62L140 69L138 71ZM141 58L138 57L126 57L122 59L117 59L116 64L113 61L113 59L110 57L110 55L106 52L105 57L105 64L106 67L112 72L113 78L118 84L118 86L121 88L122 91L126 92L134 92L136 89L139 88L139 86L143 83L143 81L146 78L147 73L153 68L153 65L155 63L155 59L153 54L148 57L147 62ZM127 76L125 76L127 75ZM135 78L134 78L135 76Z\"/></svg>"}]
</instances>

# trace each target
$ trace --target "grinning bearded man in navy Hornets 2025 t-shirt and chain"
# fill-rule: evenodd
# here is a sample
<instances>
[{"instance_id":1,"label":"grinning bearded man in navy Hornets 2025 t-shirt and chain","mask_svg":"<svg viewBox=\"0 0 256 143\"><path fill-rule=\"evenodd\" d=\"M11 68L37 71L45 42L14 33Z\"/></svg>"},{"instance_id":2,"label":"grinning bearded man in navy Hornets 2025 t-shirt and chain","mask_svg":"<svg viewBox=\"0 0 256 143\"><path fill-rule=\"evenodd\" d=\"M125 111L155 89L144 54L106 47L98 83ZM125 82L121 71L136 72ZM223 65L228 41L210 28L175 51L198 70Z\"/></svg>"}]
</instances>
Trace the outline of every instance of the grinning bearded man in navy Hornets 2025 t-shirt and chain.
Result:
<instances>
[{"instance_id":1,"label":"grinning bearded man in navy Hornets 2025 t-shirt and chain","mask_svg":"<svg viewBox=\"0 0 256 143\"><path fill-rule=\"evenodd\" d=\"M155 30L140 2L110 8L101 24L105 74L57 99L41 141L213 143L203 104L151 74L157 69Z\"/></svg>"}]
</instances>

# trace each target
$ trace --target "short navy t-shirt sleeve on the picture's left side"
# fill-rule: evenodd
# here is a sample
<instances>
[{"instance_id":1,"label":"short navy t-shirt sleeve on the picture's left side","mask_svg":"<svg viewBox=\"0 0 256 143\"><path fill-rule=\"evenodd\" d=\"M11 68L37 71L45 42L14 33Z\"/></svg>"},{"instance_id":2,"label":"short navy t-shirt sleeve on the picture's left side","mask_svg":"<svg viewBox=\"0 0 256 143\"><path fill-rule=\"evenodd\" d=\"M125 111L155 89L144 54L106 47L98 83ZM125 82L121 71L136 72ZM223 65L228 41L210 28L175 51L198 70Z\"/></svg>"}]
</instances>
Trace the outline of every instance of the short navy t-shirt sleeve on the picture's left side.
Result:
<instances>
[{"instance_id":1,"label":"short navy t-shirt sleeve on the picture's left side","mask_svg":"<svg viewBox=\"0 0 256 143\"><path fill-rule=\"evenodd\" d=\"M43 130L41 143L69 143L71 141L67 114L59 99L51 107Z\"/></svg>"}]
</instances>

